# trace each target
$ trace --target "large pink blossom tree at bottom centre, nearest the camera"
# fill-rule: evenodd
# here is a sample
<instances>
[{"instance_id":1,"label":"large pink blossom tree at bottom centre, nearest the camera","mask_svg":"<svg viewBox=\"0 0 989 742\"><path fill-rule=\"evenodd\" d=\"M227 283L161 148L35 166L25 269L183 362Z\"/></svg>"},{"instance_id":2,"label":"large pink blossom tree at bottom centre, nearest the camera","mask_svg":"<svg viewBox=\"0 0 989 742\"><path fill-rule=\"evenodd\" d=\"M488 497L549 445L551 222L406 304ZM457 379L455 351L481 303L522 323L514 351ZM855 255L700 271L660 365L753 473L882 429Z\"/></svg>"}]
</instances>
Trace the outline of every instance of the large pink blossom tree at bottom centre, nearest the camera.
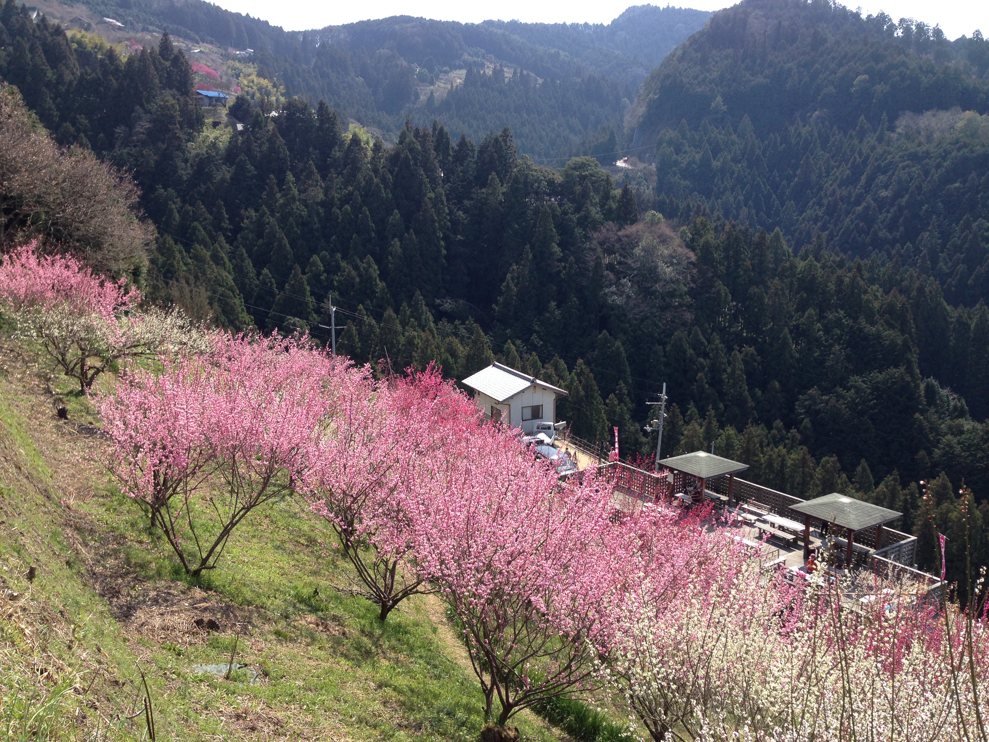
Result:
<instances>
[{"instance_id":1,"label":"large pink blossom tree at bottom centre, nearest the camera","mask_svg":"<svg viewBox=\"0 0 989 742\"><path fill-rule=\"evenodd\" d=\"M480 427L442 454L416 472L415 558L463 631L486 715L497 698L503 725L595 683L637 535L615 522L607 483L561 483L503 427Z\"/></svg>"}]
</instances>

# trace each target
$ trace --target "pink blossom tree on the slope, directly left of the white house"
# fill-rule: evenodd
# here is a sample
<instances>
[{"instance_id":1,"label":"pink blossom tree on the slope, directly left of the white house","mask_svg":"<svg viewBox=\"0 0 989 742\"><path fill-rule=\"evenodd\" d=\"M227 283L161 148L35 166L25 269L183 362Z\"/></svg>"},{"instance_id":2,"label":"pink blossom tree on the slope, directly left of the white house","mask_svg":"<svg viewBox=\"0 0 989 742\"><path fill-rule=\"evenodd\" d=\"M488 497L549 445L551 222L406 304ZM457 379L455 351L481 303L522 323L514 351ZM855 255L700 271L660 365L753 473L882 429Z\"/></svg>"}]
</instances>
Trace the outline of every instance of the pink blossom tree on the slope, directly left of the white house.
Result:
<instances>
[{"instance_id":1,"label":"pink blossom tree on the slope, directly left of the white house","mask_svg":"<svg viewBox=\"0 0 989 742\"><path fill-rule=\"evenodd\" d=\"M406 598L432 592L409 560L414 472L476 425L477 409L434 368L378 382L351 370L335 381L303 493L353 565L349 592L377 605L384 621Z\"/></svg>"}]
</instances>

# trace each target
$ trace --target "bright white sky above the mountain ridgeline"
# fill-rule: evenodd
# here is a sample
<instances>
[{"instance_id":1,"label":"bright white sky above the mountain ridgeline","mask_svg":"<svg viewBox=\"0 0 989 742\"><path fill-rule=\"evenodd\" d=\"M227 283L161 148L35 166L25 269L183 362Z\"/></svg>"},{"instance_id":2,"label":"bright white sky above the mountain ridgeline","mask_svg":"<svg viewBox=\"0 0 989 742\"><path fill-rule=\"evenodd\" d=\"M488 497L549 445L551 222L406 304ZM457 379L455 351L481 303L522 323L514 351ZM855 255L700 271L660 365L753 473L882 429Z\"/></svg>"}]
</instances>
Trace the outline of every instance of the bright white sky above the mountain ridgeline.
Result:
<instances>
[{"instance_id":1,"label":"bright white sky above the mountain ridgeline","mask_svg":"<svg viewBox=\"0 0 989 742\"><path fill-rule=\"evenodd\" d=\"M320 29L324 26L363 21L368 18L387 18L397 15L424 16L441 21L478 23L497 14L497 4L469 3L462 0L378 0L373 5L360 2L324 2L319 0L213 0L227 10L249 13L275 26L289 31ZM626 7L641 4L643 0L535 0L522 5L505 6L504 19L518 19L530 23L608 23ZM665 0L654 0L665 4ZM725 7L724 0L687 0L686 7L700 10L718 10ZM848 0L850 7L857 7L857 0ZM987 0L864 0L863 14L885 11L894 19L915 18L935 26L940 24L948 39L962 34L970 36L981 29L989 36L989 1ZM500 14L498 14L500 15Z\"/></svg>"}]
</instances>

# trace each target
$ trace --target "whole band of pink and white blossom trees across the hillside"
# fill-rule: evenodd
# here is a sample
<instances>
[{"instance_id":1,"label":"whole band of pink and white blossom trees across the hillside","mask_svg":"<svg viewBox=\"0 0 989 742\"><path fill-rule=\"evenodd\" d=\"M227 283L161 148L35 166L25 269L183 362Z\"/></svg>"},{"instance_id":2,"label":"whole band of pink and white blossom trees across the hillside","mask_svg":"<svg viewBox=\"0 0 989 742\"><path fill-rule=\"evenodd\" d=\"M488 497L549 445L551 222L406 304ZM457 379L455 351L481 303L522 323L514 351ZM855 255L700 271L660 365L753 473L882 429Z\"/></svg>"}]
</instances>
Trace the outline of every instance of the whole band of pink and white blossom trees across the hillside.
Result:
<instances>
[{"instance_id":1,"label":"whole band of pink and white blossom trees across the hillside","mask_svg":"<svg viewBox=\"0 0 989 742\"><path fill-rule=\"evenodd\" d=\"M0 296L39 337L59 312L104 323L108 347L139 325L119 319L135 292L30 248ZM435 370L375 379L304 337L200 346L97 398L108 470L190 575L252 510L300 493L383 620L443 597L499 724L606 689L655 740L987 739L982 577L963 607L850 610L840 582L762 574L708 512L618 511L603 477L560 482Z\"/></svg>"}]
</instances>

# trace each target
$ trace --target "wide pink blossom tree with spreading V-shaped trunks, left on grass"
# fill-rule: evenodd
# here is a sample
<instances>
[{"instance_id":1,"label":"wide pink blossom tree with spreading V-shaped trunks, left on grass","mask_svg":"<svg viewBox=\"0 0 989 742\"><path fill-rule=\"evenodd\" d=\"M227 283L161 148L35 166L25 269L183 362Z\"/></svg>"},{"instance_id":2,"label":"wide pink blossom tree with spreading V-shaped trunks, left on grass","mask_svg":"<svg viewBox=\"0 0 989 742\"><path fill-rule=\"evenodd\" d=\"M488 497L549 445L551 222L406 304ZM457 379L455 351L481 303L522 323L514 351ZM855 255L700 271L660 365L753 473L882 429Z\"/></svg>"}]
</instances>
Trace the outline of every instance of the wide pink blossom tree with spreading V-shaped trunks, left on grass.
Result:
<instances>
[{"instance_id":1,"label":"wide pink blossom tree with spreading V-shaped trunks, left on grass","mask_svg":"<svg viewBox=\"0 0 989 742\"><path fill-rule=\"evenodd\" d=\"M108 469L187 574L215 569L244 517L294 491L345 366L301 340L217 335L211 352L136 369L99 398Z\"/></svg>"}]
</instances>

